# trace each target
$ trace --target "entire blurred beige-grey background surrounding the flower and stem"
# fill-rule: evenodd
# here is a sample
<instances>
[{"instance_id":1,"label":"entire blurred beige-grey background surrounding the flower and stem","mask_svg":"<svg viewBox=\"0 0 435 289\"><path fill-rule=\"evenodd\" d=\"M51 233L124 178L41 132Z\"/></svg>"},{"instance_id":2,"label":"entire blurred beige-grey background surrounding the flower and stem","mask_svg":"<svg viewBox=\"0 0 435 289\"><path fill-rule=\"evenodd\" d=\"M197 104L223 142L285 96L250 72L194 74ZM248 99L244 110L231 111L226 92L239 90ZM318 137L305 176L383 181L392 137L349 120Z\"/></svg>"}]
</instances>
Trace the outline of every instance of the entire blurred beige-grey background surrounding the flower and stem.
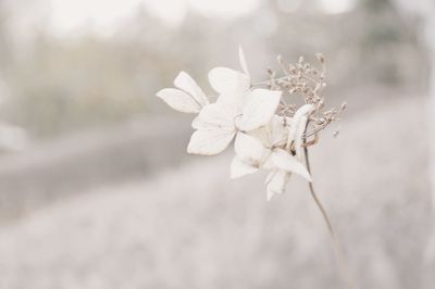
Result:
<instances>
[{"instance_id":1,"label":"entire blurred beige-grey background surrounding the flower and stem","mask_svg":"<svg viewBox=\"0 0 435 289\"><path fill-rule=\"evenodd\" d=\"M412 3L411 3L412 2ZM432 0L1 0L0 288L345 288L307 184L186 155L188 72L327 60L313 177L359 288L435 288ZM333 138L335 128L338 138Z\"/></svg>"}]
</instances>

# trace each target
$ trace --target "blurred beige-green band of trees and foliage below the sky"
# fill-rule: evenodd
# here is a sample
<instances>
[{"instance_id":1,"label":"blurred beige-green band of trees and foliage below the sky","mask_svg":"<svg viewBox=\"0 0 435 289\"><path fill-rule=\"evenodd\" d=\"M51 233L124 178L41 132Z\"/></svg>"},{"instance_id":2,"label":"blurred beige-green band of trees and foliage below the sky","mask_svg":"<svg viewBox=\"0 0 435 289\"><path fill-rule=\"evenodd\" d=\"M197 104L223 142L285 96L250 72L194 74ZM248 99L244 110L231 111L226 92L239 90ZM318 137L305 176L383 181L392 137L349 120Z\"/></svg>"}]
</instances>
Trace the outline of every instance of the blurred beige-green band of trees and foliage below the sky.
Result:
<instances>
[{"instance_id":1,"label":"blurred beige-green band of trees and foliage below the sky","mask_svg":"<svg viewBox=\"0 0 435 289\"><path fill-rule=\"evenodd\" d=\"M50 34L44 17L18 35L11 23L27 16L18 13L26 7L1 5L0 77L9 91L2 115L44 137L157 113L163 105L156 91L178 71L204 85L198 75L217 63L236 67L238 43L257 80L266 77L261 72L277 53L293 61L321 51L330 61L334 95L378 86L421 88L425 65L418 26L405 23L388 0L359 1L339 14L323 13L313 1L293 12L282 3L263 1L233 20L190 11L179 26L167 26L142 8L112 36L72 37Z\"/></svg>"}]
</instances>

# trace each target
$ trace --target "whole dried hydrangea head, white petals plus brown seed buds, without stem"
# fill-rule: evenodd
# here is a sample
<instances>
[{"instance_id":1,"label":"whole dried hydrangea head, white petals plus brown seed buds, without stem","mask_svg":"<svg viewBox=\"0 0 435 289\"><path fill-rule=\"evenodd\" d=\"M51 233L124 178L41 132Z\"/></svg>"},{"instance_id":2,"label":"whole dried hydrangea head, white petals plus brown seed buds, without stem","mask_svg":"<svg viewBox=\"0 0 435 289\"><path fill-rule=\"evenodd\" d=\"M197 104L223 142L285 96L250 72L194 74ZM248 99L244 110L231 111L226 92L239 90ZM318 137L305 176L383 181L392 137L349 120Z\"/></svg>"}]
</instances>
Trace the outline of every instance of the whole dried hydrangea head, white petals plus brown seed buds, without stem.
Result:
<instances>
[{"instance_id":1,"label":"whole dried hydrangea head, white petals plus brown seed buds, without stem","mask_svg":"<svg viewBox=\"0 0 435 289\"><path fill-rule=\"evenodd\" d=\"M188 153L215 155L235 140L231 177L269 171L265 185L270 200L284 192L293 174L311 181L303 163L304 147L314 144L318 133L345 108L323 111L324 59L320 54L318 59L322 71L303 59L287 66L278 56L284 76L277 78L268 70L270 79L253 84L239 48L241 72L216 67L209 73L210 85L217 92L215 101L185 72L175 78L175 88L164 88L157 96L176 111L198 114L191 124L195 133ZM302 96L299 108L285 101L296 95ZM312 129L308 131L308 127ZM307 141L309 137L313 139Z\"/></svg>"}]
</instances>

